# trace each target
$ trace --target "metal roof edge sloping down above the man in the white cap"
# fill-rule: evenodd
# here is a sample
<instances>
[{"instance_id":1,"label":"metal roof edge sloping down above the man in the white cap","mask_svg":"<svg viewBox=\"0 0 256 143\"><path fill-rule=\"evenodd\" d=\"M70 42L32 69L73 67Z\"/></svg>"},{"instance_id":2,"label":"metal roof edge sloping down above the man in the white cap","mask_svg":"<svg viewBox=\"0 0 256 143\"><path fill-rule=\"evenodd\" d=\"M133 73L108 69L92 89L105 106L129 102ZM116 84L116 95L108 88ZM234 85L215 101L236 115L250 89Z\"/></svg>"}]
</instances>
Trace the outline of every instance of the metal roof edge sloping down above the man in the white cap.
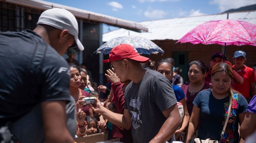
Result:
<instances>
[{"instance_id":1,"label":"metal roof edge sloping down above the man in the white cap","mask_svg":"<svg viewBox=\"0 0 256 143\"><path fill-rule=\"evenodd\" d=\"M41 9L41 10L47 10L51 8L64 8L71 12L75 17L84 18L86 20L96 21L96 22L102 22L110 25L114 25L117 27L125 27L135 30L143 30L148 31L147 27L144 25L139 24L138 22L125 20L121 18L115 18L107 15L102 15L82 9L77 9L69 6L64 6L61 4L56 4L52 2L42 1L42 0L4 0L8 3L13 3L17 5L23 5L31 8Z\"/></svg>"}]
</instances>

